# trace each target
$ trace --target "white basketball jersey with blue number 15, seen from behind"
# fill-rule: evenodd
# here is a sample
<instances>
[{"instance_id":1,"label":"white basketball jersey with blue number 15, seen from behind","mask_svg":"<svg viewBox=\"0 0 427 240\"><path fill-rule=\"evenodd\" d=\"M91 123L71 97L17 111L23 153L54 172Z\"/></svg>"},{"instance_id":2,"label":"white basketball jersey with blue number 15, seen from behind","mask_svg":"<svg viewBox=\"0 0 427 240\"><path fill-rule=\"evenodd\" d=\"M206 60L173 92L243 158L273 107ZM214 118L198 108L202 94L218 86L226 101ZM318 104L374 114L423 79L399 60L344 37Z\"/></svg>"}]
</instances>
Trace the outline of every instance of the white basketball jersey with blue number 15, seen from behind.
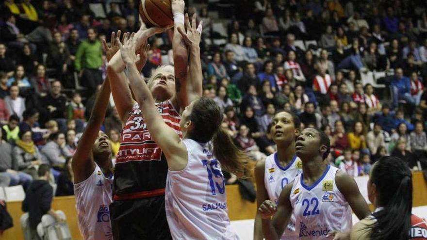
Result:
<instances>
[{"instance_id":1,"label":"white basketball jersey with blue number 15, seen from behind","mask_svg":"<svg viewBox=\"0 0 427 240\"><path fill-rule=\"evenodd\" d=\"M168 171L165 206L174 240L238 240L228 217L225 182L212 144L182 141L187 166Z\"/></svg>"}]
</instances>

